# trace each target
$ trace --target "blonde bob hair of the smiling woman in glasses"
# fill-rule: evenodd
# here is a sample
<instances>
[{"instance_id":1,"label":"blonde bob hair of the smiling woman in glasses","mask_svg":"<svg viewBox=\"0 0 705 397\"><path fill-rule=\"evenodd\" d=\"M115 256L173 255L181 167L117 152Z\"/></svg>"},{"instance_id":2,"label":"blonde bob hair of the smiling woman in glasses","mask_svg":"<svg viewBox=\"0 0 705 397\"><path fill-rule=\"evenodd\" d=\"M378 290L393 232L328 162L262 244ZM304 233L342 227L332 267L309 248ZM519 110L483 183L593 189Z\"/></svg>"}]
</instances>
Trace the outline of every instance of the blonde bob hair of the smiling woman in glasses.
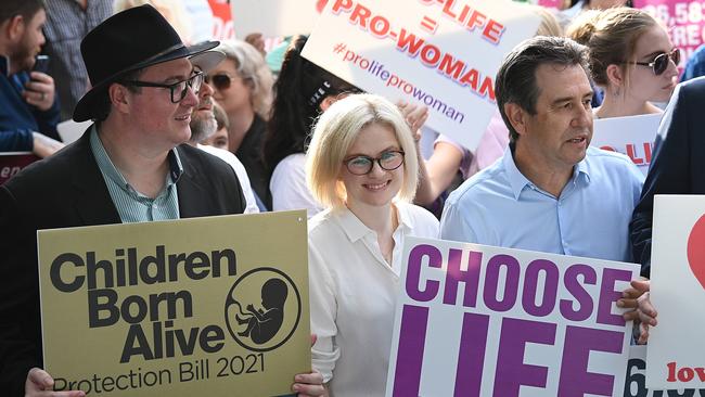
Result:
<instances>
[{"instance_id":1,"label":"blonde bob hair of the smiling woman in glasses","mask_svg":"<svg viewBox=\"0 0 705 397\"><path fill-rule=\"evenodd\" d=\"M373 94L355 94L335 102L313 127L306 159L306 180L313 197L326 207L345 206L347 193L339 181L347 151L366 127L390 128L405 152L403 181L397 198L411 202L419 183L419 159L409 126L392 102Z\"/></svg>"}]
</instances>

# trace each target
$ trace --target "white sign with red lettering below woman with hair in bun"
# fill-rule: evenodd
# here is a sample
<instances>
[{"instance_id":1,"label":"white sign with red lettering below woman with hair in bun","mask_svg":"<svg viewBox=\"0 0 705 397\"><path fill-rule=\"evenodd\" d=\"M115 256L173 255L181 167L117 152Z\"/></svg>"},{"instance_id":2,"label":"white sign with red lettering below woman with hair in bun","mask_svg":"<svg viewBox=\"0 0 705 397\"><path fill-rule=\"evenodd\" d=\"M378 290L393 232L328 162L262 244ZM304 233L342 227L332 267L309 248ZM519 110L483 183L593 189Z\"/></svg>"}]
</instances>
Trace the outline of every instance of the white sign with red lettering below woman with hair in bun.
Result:
<instances>
[{"instance_id":1,"label":"white sign with red lettering below woman with hair in bun","mask_svg":"<svg viewBox=\"0 0 705 397\"><path fill-rule=\"evenodd\" d=\"M663 114L599 118L590 145L626 154L645 176Z\"/></svg>"}]
</instances>

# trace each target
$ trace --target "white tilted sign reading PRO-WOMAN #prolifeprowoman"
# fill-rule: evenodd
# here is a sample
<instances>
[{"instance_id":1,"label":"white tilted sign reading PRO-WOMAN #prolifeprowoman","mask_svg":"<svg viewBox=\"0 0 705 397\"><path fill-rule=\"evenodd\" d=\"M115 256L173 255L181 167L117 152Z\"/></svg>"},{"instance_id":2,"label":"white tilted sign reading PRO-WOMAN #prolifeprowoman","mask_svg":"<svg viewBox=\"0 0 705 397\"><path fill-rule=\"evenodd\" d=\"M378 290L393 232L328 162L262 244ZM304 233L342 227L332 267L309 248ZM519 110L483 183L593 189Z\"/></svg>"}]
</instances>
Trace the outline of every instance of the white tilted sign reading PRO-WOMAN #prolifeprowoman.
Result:
<instances>
[{"instance_id":1,"label":"white tilted sign reading PRO-WOMAN #prolifeprowoman","mask_svg":"<svg viewBox=\"0 0 705 397\"><path fill-rule=\"evenodd\" d=\"M502 59L538 25L507 0L330 0L303 55L369 92L428 106L431 128L474 150L497 108Z\"/></svg>"}]
</instances>

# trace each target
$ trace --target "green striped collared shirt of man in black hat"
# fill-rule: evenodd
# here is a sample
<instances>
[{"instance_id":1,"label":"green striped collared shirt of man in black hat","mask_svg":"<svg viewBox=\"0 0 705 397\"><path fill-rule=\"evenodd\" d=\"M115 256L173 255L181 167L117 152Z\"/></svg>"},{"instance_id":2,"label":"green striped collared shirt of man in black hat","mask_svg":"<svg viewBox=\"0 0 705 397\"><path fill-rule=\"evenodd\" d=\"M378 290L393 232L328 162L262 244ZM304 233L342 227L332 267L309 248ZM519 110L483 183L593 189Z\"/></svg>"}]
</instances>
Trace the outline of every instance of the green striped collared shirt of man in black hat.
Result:
<instances>
[{"instance_id":1,"label":"green striped collared shirt of man in black hat","mask_svg":"<svg viewBox=\"0 0 705 397\"><path fill-rule=\"evenodd\" d=\"M105 152L95 125L91 127L90 135L91 152L123 223L179 219L176 183L183 174L183 167L176 149L167 155L170 172L166 176L165 187L155 198L152 198L134 190L125 180Z\"/></svg>"}]
</instances>

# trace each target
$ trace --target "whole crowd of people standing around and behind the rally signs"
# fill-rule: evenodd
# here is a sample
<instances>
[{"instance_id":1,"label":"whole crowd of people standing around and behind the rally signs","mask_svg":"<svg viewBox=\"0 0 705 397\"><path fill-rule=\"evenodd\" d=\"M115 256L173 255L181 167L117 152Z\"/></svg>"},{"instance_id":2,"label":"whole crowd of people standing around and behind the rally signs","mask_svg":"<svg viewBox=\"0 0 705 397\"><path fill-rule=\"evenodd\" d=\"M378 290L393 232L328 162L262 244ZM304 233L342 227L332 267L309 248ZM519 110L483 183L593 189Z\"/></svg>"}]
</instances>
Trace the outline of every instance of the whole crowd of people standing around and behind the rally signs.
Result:
<instances>
[{"instance_id":1,"label":"whole crowd of people standing around and behind the rally signs","mask_svg":"<svg viewBox=\"0 0 705 397\"><path fill-rule=\"evenodd\" d=\"M188 15L142 3L0 2L0 152L44 157L0 187L3 395L50 395L36 231L78 226L306 209L317 337L313 371L292 384L302 396L384 395L407 236L642 264L618 306L646 341L653 196L705 191L705 79L677 86L679 49L648 13L533 8L541 26L505 54L479 146L438 131L424 158L428 110L309 62L307 37L274 77L262 48L192 40ZM666 104L645 181L590 146L594 119ZM69 118L92 123L64 145Z\"/></svg>"}]
</instances>

